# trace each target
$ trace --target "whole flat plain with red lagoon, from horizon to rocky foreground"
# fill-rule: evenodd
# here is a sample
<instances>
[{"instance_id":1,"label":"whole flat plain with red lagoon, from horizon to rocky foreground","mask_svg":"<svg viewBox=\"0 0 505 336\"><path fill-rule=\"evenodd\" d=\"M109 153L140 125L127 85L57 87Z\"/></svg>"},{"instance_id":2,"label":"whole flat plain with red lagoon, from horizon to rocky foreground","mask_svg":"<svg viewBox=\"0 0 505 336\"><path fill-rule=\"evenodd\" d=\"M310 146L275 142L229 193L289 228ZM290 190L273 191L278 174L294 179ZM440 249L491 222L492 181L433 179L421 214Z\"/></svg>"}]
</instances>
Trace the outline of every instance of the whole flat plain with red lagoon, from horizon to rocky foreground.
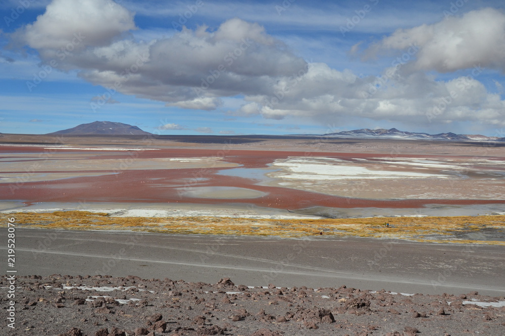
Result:
<instances>
[{"instance_id":1,"label":"whole flat plain with red lagoon, from horizon to rocky foreground","mask_svg":"<svg viewBox=\"0 0 505 336\"><path fill-rule=\"evenodd\" d=\"M503 145L4 135L0 207L20 276L478 291L500 305Z\"/></svg>"}]
</instances>

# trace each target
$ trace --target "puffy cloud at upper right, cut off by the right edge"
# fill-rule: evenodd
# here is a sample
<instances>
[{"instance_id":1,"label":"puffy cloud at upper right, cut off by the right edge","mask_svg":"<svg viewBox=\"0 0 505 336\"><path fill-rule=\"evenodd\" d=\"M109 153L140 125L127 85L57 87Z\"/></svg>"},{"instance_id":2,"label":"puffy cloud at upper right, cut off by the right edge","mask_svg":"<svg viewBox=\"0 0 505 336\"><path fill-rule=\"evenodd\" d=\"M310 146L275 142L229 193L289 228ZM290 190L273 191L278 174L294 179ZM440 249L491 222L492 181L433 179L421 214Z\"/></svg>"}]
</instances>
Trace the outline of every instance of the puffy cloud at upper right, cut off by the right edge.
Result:
<instances>
[{"instance_id":1,"label":"puffy cloud at upper right, cut off by the right edge","mask_svg":"<svg viewBox=\"0 0 505 336\"><path fill-rule=\"evenodd\" d=\"M505 14L485 8L462 17L448 16L432 25L398 29L367 54L411 45L419 47L414 62L419 70L446 73L481 65L505 72Z\"/></svg>"}]
</instances>

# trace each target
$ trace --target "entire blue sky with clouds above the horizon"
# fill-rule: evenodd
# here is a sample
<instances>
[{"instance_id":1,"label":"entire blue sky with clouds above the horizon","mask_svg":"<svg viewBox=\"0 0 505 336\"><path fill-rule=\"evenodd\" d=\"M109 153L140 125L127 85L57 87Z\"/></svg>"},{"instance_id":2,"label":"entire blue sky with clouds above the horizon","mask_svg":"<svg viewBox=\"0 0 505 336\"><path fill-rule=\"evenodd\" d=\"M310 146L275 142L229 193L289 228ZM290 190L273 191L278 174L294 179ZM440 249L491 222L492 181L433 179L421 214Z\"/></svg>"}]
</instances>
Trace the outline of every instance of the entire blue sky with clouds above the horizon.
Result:
<instances>
[{"instance_id":1,"label":"entire blue sky with clouds above the horizon","mask_svg":"<svg viewBox=\"0 0 505 336\"><path fill-rule=\"evenodd\" d=\"M505 137L501 0L0 3L0 132Z\"/></svg>"}]
</instances>

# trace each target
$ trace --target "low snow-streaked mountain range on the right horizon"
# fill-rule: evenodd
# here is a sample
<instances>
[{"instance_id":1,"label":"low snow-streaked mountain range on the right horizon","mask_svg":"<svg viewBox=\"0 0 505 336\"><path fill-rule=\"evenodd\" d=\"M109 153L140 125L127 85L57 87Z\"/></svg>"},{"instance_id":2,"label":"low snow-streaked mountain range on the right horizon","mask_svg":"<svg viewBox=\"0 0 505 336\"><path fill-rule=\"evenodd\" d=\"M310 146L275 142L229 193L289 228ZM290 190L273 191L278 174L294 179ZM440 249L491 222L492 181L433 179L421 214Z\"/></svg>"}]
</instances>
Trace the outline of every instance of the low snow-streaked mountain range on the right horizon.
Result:
<instances>
[{"instance_id":1,"label":"low snow-streaked mountain range on the right horizon","mask_svg":"<svg viewBox=\"0 0 505 336\"><path fill-rule=\"evenodd\" d=\"M412 139L412 140L441 140L441 141L505 141L505 138L486 137L481 135L463 135L455 133L416 133L390 129L355 129L338 133L326 133L323 136L331 138L384 138L384 139Z\"/></svg>"}]
</instances>

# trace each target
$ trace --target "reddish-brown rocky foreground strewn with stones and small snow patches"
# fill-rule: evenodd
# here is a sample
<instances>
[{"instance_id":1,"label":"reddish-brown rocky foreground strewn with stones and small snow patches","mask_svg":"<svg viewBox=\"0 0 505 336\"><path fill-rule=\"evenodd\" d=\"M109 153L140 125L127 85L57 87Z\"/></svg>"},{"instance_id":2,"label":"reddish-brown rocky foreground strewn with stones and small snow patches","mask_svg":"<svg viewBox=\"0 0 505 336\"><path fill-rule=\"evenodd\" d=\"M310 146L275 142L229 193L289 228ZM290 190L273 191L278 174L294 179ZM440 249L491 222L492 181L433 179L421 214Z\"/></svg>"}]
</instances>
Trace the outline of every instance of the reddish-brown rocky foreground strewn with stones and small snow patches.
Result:
<instances>
[{"instance_id":1,"label":"reddish-brown rocky foreground strewn with stones and small snow patches","mask_svg":"<svg viewBox=\"0 0 505 336\"><path fill-rule=\"evenodd\" d=\"M30 276L17 277L16 285L12 329L9 282L0 281L3 335L505 334L505 307L498 304L505 297L477 292L407 296L345 286L249 288L227 278L210 285L135 276ZM498 307L475 304L483 302Z\"/></svg>"}]
</instances>

